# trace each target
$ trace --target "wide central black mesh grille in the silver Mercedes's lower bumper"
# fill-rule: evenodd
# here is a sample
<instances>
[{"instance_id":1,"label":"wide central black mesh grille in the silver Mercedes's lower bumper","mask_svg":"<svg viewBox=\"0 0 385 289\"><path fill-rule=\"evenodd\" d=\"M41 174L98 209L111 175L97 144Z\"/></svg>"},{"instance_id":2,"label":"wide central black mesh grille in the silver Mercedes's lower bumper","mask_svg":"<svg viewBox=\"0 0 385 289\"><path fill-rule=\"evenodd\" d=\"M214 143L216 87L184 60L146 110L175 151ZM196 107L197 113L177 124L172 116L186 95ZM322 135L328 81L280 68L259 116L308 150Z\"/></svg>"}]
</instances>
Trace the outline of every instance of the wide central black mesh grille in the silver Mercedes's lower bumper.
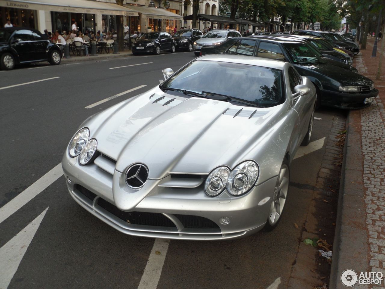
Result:
<instances>
[{"instance_id":1,"label":"wide central black mesh grille in the silver Mercedes's lower bumper","mask_svg":"<svg viewBox=\"0 0 385 289\"><path fill-rule=\"evenodd\" d=\"M169 218L161 213L124 212L102 198L99 198L97 203L100 207L127 223L158 227L176 227Z\"/></svg>"}]
</instances>

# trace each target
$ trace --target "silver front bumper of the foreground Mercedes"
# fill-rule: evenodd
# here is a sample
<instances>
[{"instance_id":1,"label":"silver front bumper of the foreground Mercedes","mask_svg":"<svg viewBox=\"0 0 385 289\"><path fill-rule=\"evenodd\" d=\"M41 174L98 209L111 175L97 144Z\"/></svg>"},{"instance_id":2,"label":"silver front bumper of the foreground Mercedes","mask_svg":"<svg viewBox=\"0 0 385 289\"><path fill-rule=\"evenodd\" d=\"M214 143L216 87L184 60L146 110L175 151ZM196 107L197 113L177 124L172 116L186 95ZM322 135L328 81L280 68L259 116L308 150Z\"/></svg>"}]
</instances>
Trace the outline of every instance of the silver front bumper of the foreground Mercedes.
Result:
<instances>
[{"instance_id":1,"label":"silver front bumper of the foreground Mercedes","mask_svg":"<svg viewBox=\"0 0 385 289\"><path fill-rule=\"evenodd\" d=\"M63 157L62 167L67 188L77 203L120 232L141 237L220 240L253 234L266 223L276 184L275 176L241 197L230 196L225 191L211 198L204 193L204 181L195 188L162 187L167 176L161 180L147 180L141 190L148 187L151 190L127 212L117 208L121 205L115 203L117 198L113 194L113 188L114 193L116 188L120 189L119 179L124 178L124 174L114 170L112 175L111 170L108 173L95 163L80 166L77 157L71 158L68 153ZM129 197L140 194L141 190L129 193ZM124 198L127 192L121 190L119 194ZM138 215L151 220L132 222L131 216ZM225 217L229 218L228 223L223 222ZM167 221L168 225L159 225ZM191 223L195 225L189 225Z\"/></svg>"}]
</instances>

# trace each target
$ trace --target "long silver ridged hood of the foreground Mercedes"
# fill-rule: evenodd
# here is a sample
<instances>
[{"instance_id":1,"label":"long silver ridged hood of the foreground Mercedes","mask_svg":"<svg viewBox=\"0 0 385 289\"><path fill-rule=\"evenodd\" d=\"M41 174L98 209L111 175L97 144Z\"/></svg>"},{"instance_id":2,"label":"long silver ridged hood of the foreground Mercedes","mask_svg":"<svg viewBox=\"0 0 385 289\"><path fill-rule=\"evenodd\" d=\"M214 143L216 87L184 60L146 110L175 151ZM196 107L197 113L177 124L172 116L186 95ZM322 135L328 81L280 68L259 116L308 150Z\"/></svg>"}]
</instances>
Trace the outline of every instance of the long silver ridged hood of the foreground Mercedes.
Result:
<instances>
[{"instance_id":1,"label":"long silver ridged hood of the foreground Mercedes","mask_svg":"<svg viewBox=\"0 0 385 289\"><path fill-rule=\"evenodd\" d=\"M219 165L233 168L250 158L251 150L266 150L271 136L280 134L275 124L285 121L284 109L286 103L273 108L235 106L165 94L156 87L91 117L83 126L97 139L97 150L117 160L117 171L144 163L150 179L161 179L170 173L208 174Z\"/></svg>"}]
</instances>

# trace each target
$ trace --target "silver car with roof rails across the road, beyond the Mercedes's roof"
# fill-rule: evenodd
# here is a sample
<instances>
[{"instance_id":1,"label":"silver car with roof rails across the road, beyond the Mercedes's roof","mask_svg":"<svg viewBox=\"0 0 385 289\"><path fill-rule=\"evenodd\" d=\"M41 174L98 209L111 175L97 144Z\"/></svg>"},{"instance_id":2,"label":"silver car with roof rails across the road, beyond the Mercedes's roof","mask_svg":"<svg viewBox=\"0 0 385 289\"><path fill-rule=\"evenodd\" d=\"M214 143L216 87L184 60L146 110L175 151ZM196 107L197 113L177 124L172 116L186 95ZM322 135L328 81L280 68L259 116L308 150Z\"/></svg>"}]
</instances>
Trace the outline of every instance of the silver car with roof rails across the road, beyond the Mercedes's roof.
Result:
<instances>
[{"instance_id":1,"label":"silver car with roof rails across the road, beyond the Mercedes's roof","mask_svg":"<svg viewBox=\"0 0 385 289\"><path fill-rule=\"evenodd\" d=\"M242 35L235 29L214 29L204 34L202 38L194 41L194 43L192 44L192 48L194 50L194 54L196 56L199 56L199 54L201 53L202 46L214 47L215 45L219 45L227 39L241 36Z\"/></svg>"}]
</instances>

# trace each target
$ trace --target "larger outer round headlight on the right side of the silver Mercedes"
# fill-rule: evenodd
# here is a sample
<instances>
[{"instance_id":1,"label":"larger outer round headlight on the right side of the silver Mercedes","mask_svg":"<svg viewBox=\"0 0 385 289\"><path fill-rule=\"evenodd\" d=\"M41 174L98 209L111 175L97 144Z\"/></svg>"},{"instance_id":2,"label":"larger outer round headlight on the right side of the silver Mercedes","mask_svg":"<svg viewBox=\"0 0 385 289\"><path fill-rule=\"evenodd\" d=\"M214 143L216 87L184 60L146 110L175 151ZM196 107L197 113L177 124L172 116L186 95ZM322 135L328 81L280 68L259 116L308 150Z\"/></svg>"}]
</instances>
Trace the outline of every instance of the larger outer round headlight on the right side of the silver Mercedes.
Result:
<instances>
[{"instance_id":1,"label":"larger outer round headlight on the right side of the silver Mercedes","mask_svg":"<svg viewBox=\"0 0 385 289\"><path fill-rule=\"evenodd\" d=\"M226 188L231 195L242 195L255 184L258 178L258 165L254 161L244 161L229 174Z\"/></svg>"}]
</instances>

